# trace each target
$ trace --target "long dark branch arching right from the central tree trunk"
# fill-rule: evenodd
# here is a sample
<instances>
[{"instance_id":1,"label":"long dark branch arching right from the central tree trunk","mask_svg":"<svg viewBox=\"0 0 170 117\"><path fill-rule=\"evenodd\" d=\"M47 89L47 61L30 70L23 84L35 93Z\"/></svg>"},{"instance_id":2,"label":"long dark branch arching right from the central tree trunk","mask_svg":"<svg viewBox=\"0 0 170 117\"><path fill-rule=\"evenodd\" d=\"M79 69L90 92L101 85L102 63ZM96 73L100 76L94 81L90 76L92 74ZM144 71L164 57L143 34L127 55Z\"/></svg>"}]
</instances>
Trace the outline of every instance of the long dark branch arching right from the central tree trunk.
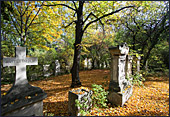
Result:
<instances>
[{"instance_id":1,"label":"long dark branch arching right from the central tree trunk","mask_svg":"<svg viewBox=\"0 0 170 117\"><path fill-rule=\"evenodd\" d=\"M101 16L101 17L99 17L99 18L97 18L97 19L89 22L89 23L85 26L85 28L83 29L83 32L87 29L87 27L88 27L90 24L92 24L92 23L94 23L94 22L96 22L96 21L98 21L98 20L100 20L100 19L102 19L102 18L104 18L104 17L107 17L107 16L109 16L109 15L112 15L112 14L114 14L114 13L117 13L117 12L123 10L123 9L130 8L130 7L135 7L135 6L125 6L125 7L123 7L123 8L120 8L120 9L118 9L118 10L116 10L116 11L113 11L113 12L111 12L111 13L105 14L105 15L103 15L103 16Z\"/></svg>"}]
</instances>

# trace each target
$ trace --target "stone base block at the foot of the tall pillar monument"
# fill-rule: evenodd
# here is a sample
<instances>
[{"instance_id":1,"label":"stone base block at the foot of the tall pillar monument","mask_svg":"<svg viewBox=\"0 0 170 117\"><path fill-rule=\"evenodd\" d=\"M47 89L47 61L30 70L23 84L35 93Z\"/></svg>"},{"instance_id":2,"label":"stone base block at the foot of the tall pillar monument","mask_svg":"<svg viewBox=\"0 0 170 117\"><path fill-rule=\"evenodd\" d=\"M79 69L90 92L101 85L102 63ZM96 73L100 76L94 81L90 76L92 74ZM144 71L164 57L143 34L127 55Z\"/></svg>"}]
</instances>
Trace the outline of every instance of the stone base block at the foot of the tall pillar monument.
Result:
<instances>
[{"instance_id":1,"label":"stone base block at the foot of the tall pillar monument","mask_svg":"<svg viewBox=\"0 0 170 117\"><path fill-rule=\"evenodd\" d=\"M108 94L108 101L117 106L123 106L124 103L130 98L132 95L132 86L128 86L122 92L110 91Z\"/></svg>"}]
</instances>

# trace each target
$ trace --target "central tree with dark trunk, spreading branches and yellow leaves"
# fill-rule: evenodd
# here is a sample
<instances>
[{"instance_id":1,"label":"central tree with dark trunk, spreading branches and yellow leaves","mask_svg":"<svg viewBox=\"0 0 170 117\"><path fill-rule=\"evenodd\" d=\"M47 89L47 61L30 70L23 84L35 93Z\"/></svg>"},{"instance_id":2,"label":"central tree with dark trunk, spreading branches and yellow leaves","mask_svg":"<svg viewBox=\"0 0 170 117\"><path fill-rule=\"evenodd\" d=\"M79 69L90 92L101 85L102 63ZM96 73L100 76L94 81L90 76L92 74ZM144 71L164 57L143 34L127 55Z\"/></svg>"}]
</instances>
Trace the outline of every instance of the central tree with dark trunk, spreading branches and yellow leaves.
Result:
<instances>
[{"instance_id":1,"label":"central tree with dark trunk, spreading branches and yellow leaves","mask_svg":"<svg viewBox=\"0 0 170 117\"><path fill-rule=\"evenodd\" d=\"M115 2L110 2L115 3ZM88 8L87 5L91 5L93 7ZM85 1L77 1L72 3L66 2L65 4L63 3L47 3L44 6L64 6L70 10L72 10L73 16L75 16L75 20L71 21L68 26L71 24L75 23L75 43L74 43L74 58L73 58L73 66L71 69L72 73L72 84L71 87L75 86L80 86L80 78L79 78L79 62L80 62L80 53L81 53L81 42L83 38L84 32L87 30L87 28L95 23L95 22L100 22L101 25L104 25L102 22L102 19L105 17L109 17L115 13L118 13L124 9L127 8L132 8L134 5L128 5L124 7L119 7L117 10L115 10L115 5L113 6L108 6L108 2L99 2L99 1L94 1L94 2L85 2ZM85 7L86 6L86 7ZM100 6L100 7L99 7ZM107 7L108 6L108 7ZM102 9L102 10L101 10ZM85 12L88 11L88 12ZM94 13L93 12L96 12ZM68 13L69 14L69 13ZM71 13L69 14L71 15ZM84 18L86 17L86 18Z\"/></svg>"}]
</instances>

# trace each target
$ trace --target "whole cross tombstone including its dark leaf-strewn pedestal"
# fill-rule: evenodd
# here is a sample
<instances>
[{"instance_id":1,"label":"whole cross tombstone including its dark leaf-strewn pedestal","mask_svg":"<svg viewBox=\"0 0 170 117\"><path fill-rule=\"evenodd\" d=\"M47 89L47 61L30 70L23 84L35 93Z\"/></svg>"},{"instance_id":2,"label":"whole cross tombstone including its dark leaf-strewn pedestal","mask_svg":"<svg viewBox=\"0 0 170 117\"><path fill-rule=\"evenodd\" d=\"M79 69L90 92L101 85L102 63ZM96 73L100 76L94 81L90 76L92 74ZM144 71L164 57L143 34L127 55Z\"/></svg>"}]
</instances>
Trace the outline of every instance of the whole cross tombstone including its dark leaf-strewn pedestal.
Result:
<instances>
[{"instance_id":1,"label":"whole cross tombstone including its dark leaf-strewn pedestal","mask_svg":"<svg viewBox=\"0 0 170 117\"><path fill-rule=\"evenodd\" d=\"M16 66L16 76L12 88L1 98L2 116L43 116L47 94L28 83L26 65L38 65L37 58L26 57L26 47L16 47L16 57L3 58L3 67Z\"/></svg>"}]
</instances>

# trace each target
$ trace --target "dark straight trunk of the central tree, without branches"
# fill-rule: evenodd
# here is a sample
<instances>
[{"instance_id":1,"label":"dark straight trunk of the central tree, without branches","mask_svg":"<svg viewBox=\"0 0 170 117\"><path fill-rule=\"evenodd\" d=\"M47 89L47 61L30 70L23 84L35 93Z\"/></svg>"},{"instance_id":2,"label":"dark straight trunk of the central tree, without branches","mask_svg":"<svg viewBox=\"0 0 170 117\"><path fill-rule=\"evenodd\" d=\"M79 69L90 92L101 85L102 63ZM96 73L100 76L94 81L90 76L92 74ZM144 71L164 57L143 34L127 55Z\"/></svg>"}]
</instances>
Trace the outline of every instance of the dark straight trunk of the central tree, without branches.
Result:
<instances>
[{"instance_id":1,"label":"dark straight trunk of the central tree, without branches","mask_svg":"<svg viewBox=\"0 0 170 117\"><path fill-rule=\"evenodd\" d=\"M71 87L81 86L79 78L79 64L81 53L81 41L83 37L83 1L79 1L79 8L77 9L76 35L74 43L74 59L71 69L72 84Z\"/></svg>"}]
</instances>

